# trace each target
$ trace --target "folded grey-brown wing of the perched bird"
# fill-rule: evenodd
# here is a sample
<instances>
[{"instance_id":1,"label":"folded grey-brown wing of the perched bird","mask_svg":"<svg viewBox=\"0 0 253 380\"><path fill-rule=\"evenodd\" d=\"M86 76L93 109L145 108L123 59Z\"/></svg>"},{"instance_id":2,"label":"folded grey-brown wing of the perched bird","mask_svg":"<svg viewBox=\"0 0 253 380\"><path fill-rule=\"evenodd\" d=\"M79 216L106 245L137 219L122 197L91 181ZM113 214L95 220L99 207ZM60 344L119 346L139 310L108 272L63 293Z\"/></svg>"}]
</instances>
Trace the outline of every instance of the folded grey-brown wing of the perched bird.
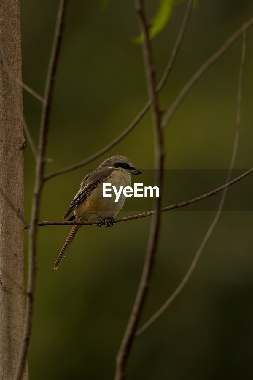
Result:
<instances>
[{"instance_id":1,"label":"folded grey-brown wing of the perched bird","mask_svg":"<svg viewBox=\"0 0 253 380\"><path fill-rule=\"evenodd\" d=\"M115 170L115 168L97 168L87 174L87 176L82 180L80 185L79 192L76 193L73 201L71 202L70 208L64 215L63 219L68 217L68 215L71 214L71 212L74 210L74 208L84 201L85 198L89 195L89 193L94 190L99 184L102 182L105 182L106 179L112 174L112 172Z\"/></svg>"}]
</instances>

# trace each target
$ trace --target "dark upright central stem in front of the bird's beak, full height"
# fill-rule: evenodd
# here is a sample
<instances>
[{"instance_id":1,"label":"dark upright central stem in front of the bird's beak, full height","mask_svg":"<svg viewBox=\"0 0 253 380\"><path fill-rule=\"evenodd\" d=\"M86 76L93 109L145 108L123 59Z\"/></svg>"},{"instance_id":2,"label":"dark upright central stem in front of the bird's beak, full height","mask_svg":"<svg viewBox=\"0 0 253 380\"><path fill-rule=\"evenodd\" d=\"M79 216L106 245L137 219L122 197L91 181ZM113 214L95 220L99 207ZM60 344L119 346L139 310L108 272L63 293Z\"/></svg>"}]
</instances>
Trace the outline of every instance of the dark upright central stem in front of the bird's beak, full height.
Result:
<instances>
[{"instance_id":1,"label":"dark upright central stem in front of the bird's beak, full height","mask_svg":"<svg viewBox=\"0 0 253 380\"><path fill-rule=\"evenodd\" d=\"M136 298L134 300L133 309L131 311L126 330L123 335L122 342L120 344L119 352L117 354L114 380L123 380L126 377L126 364L133 344L134 333L138 326L138 322L144 307L145 299L147 297L147 291L153 272L155 254L157 252L161 220L161 195L163 189L164 141L163 131L161 128L161 111L158 102L158 92L156 90L155 84L155 69L153 64L152 47L149 40L149 22L145 14L144 0L135 0L135 5L139 17L141 33L144 36L144 41L142 44L142 54L145 66L147 89L149 93L149 99L151 102L151 116L153 124L156 169L154 182L160 190L160 196L155 198L154 201L155 213L153 215L150 225L149 239L147 244L144 266L142 269L141 280L139 283Z\"/></svg>"}]
</instances>

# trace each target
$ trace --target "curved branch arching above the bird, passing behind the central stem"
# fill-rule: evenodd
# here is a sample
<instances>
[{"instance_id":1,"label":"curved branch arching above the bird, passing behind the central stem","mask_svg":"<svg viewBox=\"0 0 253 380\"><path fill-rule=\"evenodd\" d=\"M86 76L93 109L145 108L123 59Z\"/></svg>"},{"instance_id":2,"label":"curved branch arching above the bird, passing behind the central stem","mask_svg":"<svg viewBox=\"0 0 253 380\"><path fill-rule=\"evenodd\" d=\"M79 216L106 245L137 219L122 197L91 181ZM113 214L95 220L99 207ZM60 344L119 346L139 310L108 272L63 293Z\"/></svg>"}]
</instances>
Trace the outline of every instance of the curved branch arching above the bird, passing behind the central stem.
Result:
<instances>
[{"instance_id":1,"label":"curved branch arching above the bird, passing behind the central stem","mask_svg":"<svg viewBox=\"0 0 253 380\"><path fill-rule=\"evenodd\" d=\"M176 59L177 53L179 51L179 47L180 47L180 45L182 43L182 39L183 39L183 36L185 34L185 30L186 30L186 27L187 27L187 24L188 24L188 20L189 20L190 13L191 13L192 2L193 2L193 0L189 0L188 1L187 8L186 8L186 11L185 11L185 15L184 15L184 18L183 18L183 22L182 22L182 25L181 25L180 30L179 30L179 35L177 37L175 46L174 46L174 48L172 50L171 57L169 59L168 65L166 66L166 68L164 70L164 73L163 73L163 76L162 76L162 78L161 78L161 80L160 80L160 82L159 82L159 84L157 86L157 91L160 91L163 88L163 86L164 86L164 84L165 84L165 82L166 82L166 80L167 80L167 78L169 76L169 73L171 72L173 63L174 63L174 61ZM91 162L91 161L95 160L96 158L100 157L102 154L108 152L109 149L111 149L116 144L118 144L118 142L120 142L126 135L128 135L128 133L131 132L131 130L133 130L133 128L139 123L139 121L142 119L142 117L149 110L150 105L151 105L151 102L148 101L145 104L145 106L142 108L142 110L139 112L139 114L136 116L136 118L131 122L131 124L128 125L128 127L122 133L120 133L119 136L117 136L115 139L113 139L109 144L107 144L106 146L104 146L98 152L92 154L88 158L85 158L85 160L82 160L82 161L77 162L77 163L75 163L73 165L67 166L66 168L59 169L59 170L55 171L54 173L49 174L48 176L45 177L45 180L50 179L50 178L55 177L55 176L58 176L60 174L67 173L68 171L80 168L81 166L84 166L84 165L88 164L89 162Z\"/></svg>"}]
</instances>

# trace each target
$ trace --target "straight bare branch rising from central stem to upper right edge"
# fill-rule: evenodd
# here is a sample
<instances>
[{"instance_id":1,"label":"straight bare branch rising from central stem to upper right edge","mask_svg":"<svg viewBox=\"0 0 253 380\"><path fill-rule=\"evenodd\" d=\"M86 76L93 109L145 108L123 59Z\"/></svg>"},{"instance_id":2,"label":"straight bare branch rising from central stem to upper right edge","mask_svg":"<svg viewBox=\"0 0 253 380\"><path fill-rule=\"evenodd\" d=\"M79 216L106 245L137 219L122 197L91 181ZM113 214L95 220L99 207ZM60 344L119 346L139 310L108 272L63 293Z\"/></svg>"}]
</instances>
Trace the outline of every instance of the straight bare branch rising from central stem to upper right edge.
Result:
<instances>
[{"instance_id":1,"label":"straight bare branch rising from central stem to upper right edge","mask_svg":"<svg viewBox=\"0 0 253 380\"><path fill-rule=\"evenodd\" d=\"M169 110L166 112L166 114L163 117L162 120L162 127L165 128L168 124L169 120L171 119L172 115L176 111L177 107L180 105L182 100L185 98L191 87L199 80L199 78L204 74L204 72L218 59L221 57L222 54L225 53L225 51L228 49L228 47L237 40L237 38L244 33L248 28L250 28L253 25L253 17L244 24L243 27L241 27L239 30L237 30L236 33L234 33L231 37L228 38L228 40L223 44L220 49L218 49L197 71L196 73L191 77L191 79L187 82L187 84L182 88L179 95L177 95L176 99L170 106Z\"/></svg>"}]
</instances>

